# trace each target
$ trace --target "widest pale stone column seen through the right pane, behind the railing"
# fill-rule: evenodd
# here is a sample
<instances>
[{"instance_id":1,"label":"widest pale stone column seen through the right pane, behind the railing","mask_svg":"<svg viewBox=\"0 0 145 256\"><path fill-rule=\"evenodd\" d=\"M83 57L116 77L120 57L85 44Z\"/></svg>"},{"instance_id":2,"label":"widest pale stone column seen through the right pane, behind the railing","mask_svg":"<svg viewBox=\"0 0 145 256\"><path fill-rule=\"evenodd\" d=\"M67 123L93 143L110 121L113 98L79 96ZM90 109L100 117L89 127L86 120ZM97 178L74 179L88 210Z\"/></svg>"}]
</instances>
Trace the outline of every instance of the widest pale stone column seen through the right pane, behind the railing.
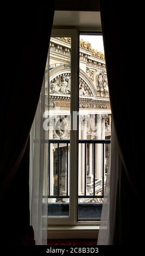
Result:
<instances>
[{"instance_id":1,"label":"widest pale stone column seen through the right pane, behind the railing","mask_svg":"<svg viewBox=\"0 0 145 256\"><path fill-rule=\"evenodd\" d=\"M95 118L95 126L96 126L96 139L101 139L101 130L102 130L102 115L97 114ZM95 176L97 179L101 178L101 144L95 145Z\"/></svg>"}]
</instances>

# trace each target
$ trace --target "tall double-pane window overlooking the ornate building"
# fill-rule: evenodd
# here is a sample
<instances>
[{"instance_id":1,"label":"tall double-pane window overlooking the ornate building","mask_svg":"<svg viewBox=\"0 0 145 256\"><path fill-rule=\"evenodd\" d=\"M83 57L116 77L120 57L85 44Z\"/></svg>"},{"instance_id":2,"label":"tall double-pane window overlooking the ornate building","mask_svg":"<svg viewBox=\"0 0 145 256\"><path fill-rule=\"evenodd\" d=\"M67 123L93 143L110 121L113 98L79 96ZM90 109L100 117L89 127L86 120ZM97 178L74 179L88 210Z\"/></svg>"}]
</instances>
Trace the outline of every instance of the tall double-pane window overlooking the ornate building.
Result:
<instances>
[{"instance_id":1,"label":"tall double-pane window overlooking the ornate building","mask_svg":"<svg viewBox=\"0 0 145 256\"><path fill-rule=\"evenodd\" d=\"M54 29L50 41L46 74L51 225L97 223L102 211L111 111L104 54L85 40L87 36L95 40L100 34Z\"/></svg>"}]
</instances>

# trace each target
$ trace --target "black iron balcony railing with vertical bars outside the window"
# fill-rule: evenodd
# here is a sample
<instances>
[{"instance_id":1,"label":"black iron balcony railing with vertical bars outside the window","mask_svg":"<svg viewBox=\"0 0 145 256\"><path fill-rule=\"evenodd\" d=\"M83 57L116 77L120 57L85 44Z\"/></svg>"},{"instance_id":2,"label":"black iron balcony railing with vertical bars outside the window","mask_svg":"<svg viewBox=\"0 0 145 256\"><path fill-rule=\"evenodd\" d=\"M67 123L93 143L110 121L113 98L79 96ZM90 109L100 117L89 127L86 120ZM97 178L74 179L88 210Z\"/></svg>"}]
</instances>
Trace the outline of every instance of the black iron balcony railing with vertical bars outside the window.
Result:
<instances>
[{"instance_id":1,"label":"black iron balcony railing with vertical bars outside the window","mask_svg":"<svg viewBox=\"0 0 145 256\"><path fill-rule=\"evenodd\" d=\"M68 191L68 145L70 144L70 139L49 139L48 142L48 147L49 147L49 166L48 166L48 198L70 198L69 196L69 191ZM105 144L110 144L110 139L79 139L79 143L80 144L84 144L85 146L85 156L84 156L84 160L85 160L85 170L84 170L84 175L85 175L85 187L84 187L84 193L79 195L78 198L104 198L104 173L105 173L105 169L104 169L104 158L105 158ZM57 149L57 191L55 192L55 194L51 195L50 193L50 187L51 187L51 161L53 161L53 159L51 159L51 155L50 155L50 149L51 149L51 144L57 144L57 147L55 149ZM60 194L60 144L66 144L66 193L65 195ZM87 144L92 144L93 147L93 190L91 192L91 194L87 194ZM102 144L102 181L98 181L96 178L96 144ZM81 160L79 160L81 161ZM96 187L100 184L102 185L100 190L102 191L102 194L96 194Z\"/></svg>"}]
</instances>

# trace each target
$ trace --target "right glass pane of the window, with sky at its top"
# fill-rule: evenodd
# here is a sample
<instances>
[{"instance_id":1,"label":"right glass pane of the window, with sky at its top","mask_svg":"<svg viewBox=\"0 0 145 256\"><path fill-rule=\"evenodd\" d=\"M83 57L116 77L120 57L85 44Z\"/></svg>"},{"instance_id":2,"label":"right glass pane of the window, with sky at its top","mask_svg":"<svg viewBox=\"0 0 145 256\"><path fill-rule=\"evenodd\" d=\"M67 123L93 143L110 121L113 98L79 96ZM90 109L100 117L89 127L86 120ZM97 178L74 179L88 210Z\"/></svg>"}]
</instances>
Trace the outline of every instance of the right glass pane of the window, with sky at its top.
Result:
<instances>
[{"instance_id":1,"label":"right glass pane of the window, with sky at its top","mask_svg":"<svg viewBox=\"0 0 145 256\"><path fill-rule=\"evenodd\" d=\"M80 34L79 42L78 220L94 221L102 211L111 109L102 35Z\"/></svg>"}]
</instances>

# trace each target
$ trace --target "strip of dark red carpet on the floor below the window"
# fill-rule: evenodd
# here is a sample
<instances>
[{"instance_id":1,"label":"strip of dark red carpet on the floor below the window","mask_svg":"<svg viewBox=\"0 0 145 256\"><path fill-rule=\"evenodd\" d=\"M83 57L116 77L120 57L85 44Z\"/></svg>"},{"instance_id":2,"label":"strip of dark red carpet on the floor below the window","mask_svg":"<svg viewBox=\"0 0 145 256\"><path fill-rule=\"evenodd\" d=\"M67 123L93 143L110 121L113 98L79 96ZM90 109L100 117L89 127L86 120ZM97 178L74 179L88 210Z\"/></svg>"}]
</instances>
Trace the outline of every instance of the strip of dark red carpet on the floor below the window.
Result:
<instances>
[{"instance_id":1,"label":"strip of dark red carpet on the floor below the window","mask_svg":"<svg viewBox=\"0 0 145 256\"><path fill-rule=\"evenodd\" d=\"M97 245L97 239L48 239L47 245Z\"/></svg>"}]
</instances>

